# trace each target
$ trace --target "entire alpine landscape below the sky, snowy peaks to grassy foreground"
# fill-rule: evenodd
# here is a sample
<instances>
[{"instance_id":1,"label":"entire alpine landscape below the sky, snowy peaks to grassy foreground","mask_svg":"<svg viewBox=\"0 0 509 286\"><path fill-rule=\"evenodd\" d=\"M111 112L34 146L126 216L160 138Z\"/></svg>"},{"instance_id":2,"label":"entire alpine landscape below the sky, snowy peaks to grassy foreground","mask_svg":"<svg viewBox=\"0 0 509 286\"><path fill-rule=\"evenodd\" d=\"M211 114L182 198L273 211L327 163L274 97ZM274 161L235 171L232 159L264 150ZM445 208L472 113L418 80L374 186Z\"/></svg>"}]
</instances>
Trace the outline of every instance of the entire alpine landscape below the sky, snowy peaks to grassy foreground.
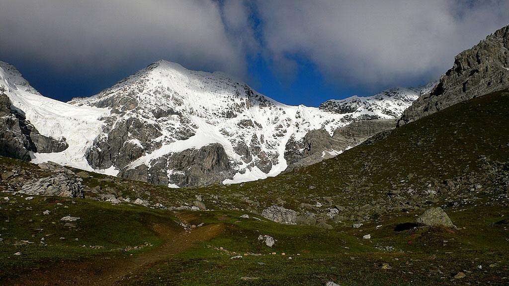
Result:
<instances>
[{"instance_id":1,"label":"entire alpine landscape below the sky, snowy peaks to grassy foreground","mask_svg":"<svg viewBox=\"0 0 509 286\"><path fill-rule=\"evenodd\" d=\"M506 286L508 122L509 25L319 107L165 61L64 103L0 63L0 284Z\"/></svg>"}]
</instances>

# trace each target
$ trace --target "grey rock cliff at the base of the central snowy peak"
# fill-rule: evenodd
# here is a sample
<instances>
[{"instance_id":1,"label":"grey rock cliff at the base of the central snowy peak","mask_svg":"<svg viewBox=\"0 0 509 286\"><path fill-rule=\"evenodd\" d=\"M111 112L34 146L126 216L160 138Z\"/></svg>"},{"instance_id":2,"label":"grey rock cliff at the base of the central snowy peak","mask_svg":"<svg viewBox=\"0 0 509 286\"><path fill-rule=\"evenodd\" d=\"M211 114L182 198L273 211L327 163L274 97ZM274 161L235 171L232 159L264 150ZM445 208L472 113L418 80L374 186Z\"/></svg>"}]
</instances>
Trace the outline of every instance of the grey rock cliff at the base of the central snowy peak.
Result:
<instances>
[{"instance_id":1,"label":"grey rock cliff at the base of the central snowy peak","mask_svg":"<svg viewBox=\"0 0 509 286\"><path fill-rule=\"evenodd\" d=\"M142 164L126 169L119 176L157 185L208 185L233 177L233 169L220 144L187 149L158 158L149 168Z\"/></svg>"}]
</instances>

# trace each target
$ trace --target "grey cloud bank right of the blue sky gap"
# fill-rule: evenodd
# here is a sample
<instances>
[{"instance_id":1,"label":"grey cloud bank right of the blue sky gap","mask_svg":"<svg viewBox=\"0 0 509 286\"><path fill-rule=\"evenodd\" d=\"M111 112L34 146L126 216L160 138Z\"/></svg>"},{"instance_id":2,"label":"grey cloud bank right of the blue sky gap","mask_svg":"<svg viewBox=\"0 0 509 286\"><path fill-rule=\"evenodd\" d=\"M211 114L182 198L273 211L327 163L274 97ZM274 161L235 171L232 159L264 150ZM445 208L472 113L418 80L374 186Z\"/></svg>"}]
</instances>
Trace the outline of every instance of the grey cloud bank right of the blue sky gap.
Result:
<instances>
[{"instance_id":1,"label":"grey cloud bank right of the blue sky gap","mask_svg":"<svg viewBox=\"0 0 509 286\"><path fill-rule=\"evenodd\" d=\"M509 23L509 1L261 0L266 49L291 72L309 58L340 84L438 77L454 56Z\"/></svg>"}]
</instances>

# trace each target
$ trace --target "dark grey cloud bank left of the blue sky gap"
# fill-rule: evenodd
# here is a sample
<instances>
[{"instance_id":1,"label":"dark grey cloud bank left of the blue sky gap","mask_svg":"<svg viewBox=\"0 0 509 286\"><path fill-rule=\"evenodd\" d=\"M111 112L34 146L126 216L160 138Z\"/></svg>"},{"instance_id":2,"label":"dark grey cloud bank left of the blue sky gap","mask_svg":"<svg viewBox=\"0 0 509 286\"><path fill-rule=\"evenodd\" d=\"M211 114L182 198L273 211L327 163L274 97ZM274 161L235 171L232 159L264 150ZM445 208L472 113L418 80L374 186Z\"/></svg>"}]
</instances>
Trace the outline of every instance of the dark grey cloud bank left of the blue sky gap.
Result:
<instances>
[{"instance_id":1,"label":"dark grey cloud bank left of the blue sky gap","mask_svg":"<svg viewBox=\"0 0 509 286\"><path fill-rule=\"evenodd\" d=\"M235 8L228 19L242 13ZM0 51L70 70L167 59L245 72L244 46L211 0L0 0ZM236 31L243 23L235 22ZM147 64L147 63L146 63Z\"/></svg>"}]
</instances>

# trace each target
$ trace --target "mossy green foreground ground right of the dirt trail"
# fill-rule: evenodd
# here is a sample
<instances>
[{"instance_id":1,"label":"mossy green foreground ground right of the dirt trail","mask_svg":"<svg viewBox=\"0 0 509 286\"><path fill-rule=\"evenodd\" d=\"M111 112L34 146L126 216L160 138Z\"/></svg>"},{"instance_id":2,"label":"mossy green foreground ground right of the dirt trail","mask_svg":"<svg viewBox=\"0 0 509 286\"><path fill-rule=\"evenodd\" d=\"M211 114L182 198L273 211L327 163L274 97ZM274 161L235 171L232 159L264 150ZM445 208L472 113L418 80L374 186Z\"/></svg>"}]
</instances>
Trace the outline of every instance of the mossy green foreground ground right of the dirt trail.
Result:
<instances>
[{"instance_id":1,"label":"mossy green foreground ground right of the dirt trail","mask_svg":"<svg viewBox=\"0 0 509 286\"><path fill-rule=\"evenodd\" d=\"M280 225L238 219L241 213L232 212L202 213L195 223L218 222L224 214L228 217L221 221L227 224L227 232L147 267L124 284L324 285L335 281L340 285L504 285L509 282L506 255L509 225L493 224L509 215L504 208L473 207L451 212L453 221L462 222L458 223L457 230L419 227L394 231L397 224L414 221L414 213L388 218L382 226L372 224L358 229L350 225L334 230ZM267 247L259 242L260 234L273 236L277 240L275 245ZM365 234L371 234L372 239L362 239ZM244 253L262 255L231 259ZM458 272L465 272L466 277L454 279Z\"/></svg>"}]
</instances>

